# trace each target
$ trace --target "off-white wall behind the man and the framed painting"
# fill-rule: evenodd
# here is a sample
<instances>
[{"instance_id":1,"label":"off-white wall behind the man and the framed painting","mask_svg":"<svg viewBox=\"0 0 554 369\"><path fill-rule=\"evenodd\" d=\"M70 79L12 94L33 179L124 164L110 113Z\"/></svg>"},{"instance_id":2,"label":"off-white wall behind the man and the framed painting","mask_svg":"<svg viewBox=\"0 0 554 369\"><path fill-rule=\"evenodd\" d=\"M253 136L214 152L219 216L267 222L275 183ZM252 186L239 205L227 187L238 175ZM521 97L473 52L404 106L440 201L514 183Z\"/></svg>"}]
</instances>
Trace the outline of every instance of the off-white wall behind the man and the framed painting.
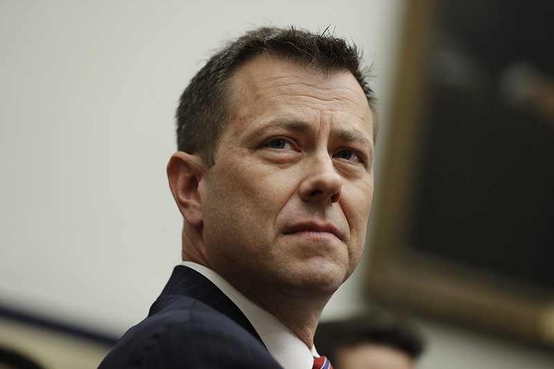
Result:
<instances>
[{"instance_id":1,"label":"off-white wall behind the man and the framed painting","mask_svg":"<svg viewBox=\"0 0 554 369\"><path fill-rule=\"evenodd\" d=\"M200 3L0 2L1 305L114 335L148 313L180 261L181 215L165 174L177 100L242 30L330 26L363 46L386 139L403 0ZM325 317L363 305L360 274ZM422 368L466 359L471 336L429 327L437 344ZM458 341L465 350L447 344ZM508 368L510 352L537 363L526 368L554 367L539 352L480 347L492 359L472 368Z\"/></svg>"}]
</instances>

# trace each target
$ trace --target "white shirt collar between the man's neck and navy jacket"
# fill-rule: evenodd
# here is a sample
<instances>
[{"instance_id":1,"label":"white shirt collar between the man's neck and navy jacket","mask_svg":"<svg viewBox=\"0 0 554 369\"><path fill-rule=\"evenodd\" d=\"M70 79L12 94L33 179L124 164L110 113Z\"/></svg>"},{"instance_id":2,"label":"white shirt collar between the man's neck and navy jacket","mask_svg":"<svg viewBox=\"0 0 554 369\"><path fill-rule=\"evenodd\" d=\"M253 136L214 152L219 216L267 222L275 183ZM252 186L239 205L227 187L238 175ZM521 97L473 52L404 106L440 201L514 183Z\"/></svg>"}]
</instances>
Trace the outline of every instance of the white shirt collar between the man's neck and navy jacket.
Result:
<instances>
[{"instance_id":1,"label":"white shirt collar between the man's neck and navy jacket","mask_svg":"<svg viewBox=\"0 0 554 369\"><path fill-rule=\"evenodd\" d=\"M315 345L310 350L279 318L253 303L212 269L195 262L182 262L181 265L194 269L211 280L237 305L280 366L285 369L312 369L314 357L319 357Z\"/></svg>"}]
</instances>

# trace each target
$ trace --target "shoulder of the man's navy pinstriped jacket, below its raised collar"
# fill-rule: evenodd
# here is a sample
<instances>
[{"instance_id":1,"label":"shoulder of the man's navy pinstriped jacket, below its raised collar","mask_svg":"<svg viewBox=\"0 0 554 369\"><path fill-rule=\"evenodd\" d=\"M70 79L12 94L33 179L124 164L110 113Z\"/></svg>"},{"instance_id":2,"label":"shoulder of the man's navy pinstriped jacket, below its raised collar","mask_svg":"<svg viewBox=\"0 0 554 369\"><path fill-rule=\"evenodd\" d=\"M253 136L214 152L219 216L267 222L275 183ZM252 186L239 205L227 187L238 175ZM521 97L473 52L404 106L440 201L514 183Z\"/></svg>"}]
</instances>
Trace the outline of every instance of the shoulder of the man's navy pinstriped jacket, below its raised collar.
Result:
<instances>
[{"instance_id":1,"label":"shoulder of the man's navy pinstriped jacket, below its raised collar","mask_svg":"<svg viewBox=\"0 0 554 369\"><path fill-rule=\"evenodd\" d=\"M132 327L100 368L280 368L265 346L233 320L186 296Z\"/></svg>"}]
</instances>

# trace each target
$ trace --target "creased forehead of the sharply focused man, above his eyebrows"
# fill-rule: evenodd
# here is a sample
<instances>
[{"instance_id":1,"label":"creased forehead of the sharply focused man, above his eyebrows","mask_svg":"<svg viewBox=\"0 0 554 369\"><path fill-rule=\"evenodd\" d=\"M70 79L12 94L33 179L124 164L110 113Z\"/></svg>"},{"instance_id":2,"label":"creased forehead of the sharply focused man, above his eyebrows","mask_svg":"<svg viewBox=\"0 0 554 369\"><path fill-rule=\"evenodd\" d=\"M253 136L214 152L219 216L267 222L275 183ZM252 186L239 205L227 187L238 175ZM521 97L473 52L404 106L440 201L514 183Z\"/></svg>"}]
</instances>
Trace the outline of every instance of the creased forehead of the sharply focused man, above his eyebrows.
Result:
<instances>
[{"instance_id":1,"label":"creased forehead of the sharply focused man, above his eyebrows","mask_svg":"<svg viewBox=\"0 0 554 369\"><path fill-rule=\"evenodd\" d=\"M248 117L276 114L292 120L327 117L339 125L363 127L368 138L373 138L367 98L348 71L321 73L294 62L258 56L239 66L230 82L237 124Z\"/></svg>"}]
</instances>

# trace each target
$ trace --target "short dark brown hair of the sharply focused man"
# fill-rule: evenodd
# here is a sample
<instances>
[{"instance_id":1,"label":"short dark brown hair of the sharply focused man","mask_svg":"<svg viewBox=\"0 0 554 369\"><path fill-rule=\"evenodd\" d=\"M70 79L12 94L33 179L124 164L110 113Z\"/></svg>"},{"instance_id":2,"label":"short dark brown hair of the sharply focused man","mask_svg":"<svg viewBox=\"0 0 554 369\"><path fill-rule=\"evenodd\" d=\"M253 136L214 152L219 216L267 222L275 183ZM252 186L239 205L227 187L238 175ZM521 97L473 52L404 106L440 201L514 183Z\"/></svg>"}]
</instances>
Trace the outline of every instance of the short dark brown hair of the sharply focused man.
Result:
<instances>
[{"instance_id":1,"label":"short dark brown hair of the sharply focused man","mask_svg":"<svg viewBox=\"0 0 554 369\"><path fill-rule=\"evenodd\" d=\"M217 142L234 115L228 84L235 69L257 55L270 55L323 73L349 71L359 82L373 114L373 139L377 136L376 99L362 68L355 45L334 37L328 30L262 27L226 45L208 60L181 95L177 109L177 148L199 154L210 168L215 163Z\"/></svg>"}]
</instances>

